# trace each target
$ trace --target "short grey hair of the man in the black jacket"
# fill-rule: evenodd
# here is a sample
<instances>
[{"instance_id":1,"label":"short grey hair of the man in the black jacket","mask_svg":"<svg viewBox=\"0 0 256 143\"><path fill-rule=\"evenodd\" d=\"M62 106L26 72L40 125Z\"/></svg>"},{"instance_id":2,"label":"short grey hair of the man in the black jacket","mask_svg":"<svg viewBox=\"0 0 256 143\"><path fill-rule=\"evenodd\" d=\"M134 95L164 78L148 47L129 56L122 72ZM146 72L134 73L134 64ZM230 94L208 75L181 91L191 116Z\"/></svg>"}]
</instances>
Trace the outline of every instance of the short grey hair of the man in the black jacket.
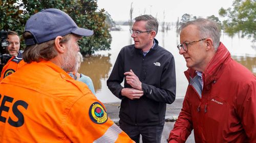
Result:
<instances>
[{"instance_id":1,"label":"short grey hair of the man in the black jacket","mask_svg":"<svg viewBox=\"0 0 256 143\"><path fill-rule=\"evenodd\" d=\"M156 34L158 32L158 21L152 15L141 15L135 18L135 21L146 21L146 30L147 31L155 31Z\"/></svg>"}]
</instances>

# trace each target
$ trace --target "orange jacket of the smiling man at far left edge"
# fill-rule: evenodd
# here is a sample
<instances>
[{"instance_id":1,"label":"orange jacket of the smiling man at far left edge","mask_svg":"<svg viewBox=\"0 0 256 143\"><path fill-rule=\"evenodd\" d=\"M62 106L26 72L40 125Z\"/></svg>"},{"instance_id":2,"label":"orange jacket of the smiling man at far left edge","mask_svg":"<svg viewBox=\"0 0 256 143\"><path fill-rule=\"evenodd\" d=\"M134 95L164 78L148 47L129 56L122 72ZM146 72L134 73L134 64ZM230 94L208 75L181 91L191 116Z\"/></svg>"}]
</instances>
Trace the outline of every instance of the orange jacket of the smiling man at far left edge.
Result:
<instances>
[{"instance_id":1,"label":"orange jacket of the smiling man at far left edge","mask_svg":"<svg viewBox=\"0 0 256 143\"><path fill-rule=\"evenodd\" d=\"M25 64L26 62L24 62L22 58L22 53L18 54L17 56L12 56L12 58L3 67L0 81L3 80L3 78L5 78L6 76L16 72L20 67L22 67Z\"/></svg>"}]
</instances>

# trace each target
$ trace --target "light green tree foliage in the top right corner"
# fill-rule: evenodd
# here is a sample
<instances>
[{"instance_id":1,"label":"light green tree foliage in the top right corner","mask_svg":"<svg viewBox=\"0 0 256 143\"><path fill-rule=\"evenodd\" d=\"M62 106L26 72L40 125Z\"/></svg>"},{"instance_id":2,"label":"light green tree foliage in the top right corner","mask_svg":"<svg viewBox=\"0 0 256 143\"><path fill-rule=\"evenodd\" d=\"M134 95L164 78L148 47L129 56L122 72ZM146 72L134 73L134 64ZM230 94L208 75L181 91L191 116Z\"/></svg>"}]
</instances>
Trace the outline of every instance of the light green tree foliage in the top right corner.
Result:
<instances>
[{"instance_id":1,"label":"light green tree foliage in the top right corner","mask_svg":"<svg viewBox=\"0 0 256 143\"><path fill-rule=\"evenodd\" d=\"M219 10L219 14L226 18L223 21L224 30L229 36L241 34L256 41L256 1L234 0L233 8Z\"/></svg>"}]
</instances>

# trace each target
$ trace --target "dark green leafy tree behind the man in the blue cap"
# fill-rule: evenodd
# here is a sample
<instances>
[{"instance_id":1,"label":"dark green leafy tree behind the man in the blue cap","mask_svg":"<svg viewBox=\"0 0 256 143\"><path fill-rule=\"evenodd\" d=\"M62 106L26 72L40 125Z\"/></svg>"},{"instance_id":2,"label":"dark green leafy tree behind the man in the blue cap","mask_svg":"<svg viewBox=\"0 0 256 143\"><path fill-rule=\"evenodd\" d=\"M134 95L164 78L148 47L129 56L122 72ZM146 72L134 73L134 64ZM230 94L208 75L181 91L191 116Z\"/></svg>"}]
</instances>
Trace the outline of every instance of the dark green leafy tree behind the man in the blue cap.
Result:
<instances>
[{"instance_id":1,"label":"dark green leafy tree behind the man in the blue cap","mask_svg":"<svg viewBox=\"0 0 256 143\"><path fill-rule=\"evenodd\" d=\"M60 9L68 13L79 27L94 31L93 36L80 40L80 51L83 55L110 49L112 38L108 31L109 27L105 23L105 11L104 9L97 9L96 0L0 1L0 29L16 31L19 35L22 35L27 19L47 8ZM24 46L25 44L22 42L22 48Z\"/></svg>"}]
</instances>

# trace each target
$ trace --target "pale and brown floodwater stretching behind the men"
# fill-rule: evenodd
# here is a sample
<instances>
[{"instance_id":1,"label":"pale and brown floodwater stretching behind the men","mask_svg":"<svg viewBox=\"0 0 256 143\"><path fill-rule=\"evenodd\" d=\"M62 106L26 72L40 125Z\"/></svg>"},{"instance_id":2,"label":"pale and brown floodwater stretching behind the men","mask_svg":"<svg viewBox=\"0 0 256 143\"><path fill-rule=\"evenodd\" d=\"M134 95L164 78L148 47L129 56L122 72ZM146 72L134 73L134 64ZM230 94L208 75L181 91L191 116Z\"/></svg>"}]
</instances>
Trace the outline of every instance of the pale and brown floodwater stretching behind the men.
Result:
<instances>
[{"instance_id":1,"label":"pale and brown floodwater stretching behind the men","mask_svg":"<svg viewBox=\"0 0 256 143\"><path fill-rule=\"evenodd\" d=\"M95 54L84 58L79 70L87 76L90 76L94 83L96 97L103 103L111 103L120 101L115 97L108 87L106 80L108 79L112 68L115 64L120 49L126 45L133 44L129 26L121 26L122 31L111 31L112 43L111 50L99 51ZM159 45L172 52L176 65L176 98L185 96L188 81L185 78L184 71L187 69L186 62L182 55L179 54L177 45L179 44L179 35L175 32L175 26L167 33L158 32L156 39ZM221 36L221 42L228 48L232 58L256 75L256 43L251 39L239 38L238 36L230 38L227 35Z\"/></svg>"}]
</instances>

